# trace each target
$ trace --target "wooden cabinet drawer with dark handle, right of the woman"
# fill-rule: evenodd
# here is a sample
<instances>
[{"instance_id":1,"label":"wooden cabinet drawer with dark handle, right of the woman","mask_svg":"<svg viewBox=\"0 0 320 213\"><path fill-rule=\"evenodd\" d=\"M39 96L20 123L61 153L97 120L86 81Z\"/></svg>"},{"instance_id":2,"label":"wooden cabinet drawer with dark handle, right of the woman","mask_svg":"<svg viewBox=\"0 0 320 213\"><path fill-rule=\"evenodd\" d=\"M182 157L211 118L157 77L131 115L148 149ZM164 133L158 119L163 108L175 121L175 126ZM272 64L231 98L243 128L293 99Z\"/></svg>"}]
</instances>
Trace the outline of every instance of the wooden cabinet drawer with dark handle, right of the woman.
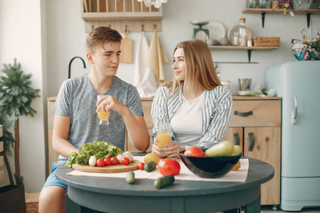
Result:
<instances>
[{"instance_id":1,"label":"wooden cabinet drawer with dark handle, right of the woman","mask_svg":"<svg viewBox=\"0 0 320 213\"><path fill-rule=\"evenodd\" d=\"M281 126L281 100L233 101L230 127Z\"/></svg>"}]
</instances>

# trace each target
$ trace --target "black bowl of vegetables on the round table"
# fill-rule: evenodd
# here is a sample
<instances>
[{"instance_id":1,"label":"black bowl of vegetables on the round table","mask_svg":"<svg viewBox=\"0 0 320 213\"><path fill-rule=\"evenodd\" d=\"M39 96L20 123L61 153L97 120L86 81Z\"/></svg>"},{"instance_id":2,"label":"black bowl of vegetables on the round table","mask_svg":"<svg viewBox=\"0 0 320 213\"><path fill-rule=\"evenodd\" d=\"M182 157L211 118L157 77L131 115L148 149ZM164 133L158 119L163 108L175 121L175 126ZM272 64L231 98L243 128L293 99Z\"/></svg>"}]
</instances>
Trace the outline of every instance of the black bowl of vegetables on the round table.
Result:
<instances>
[{"instance_id":1,"label":"black bowl of vegetables on the round table","mask_svg":"<svg viewBox=\"0 0 320 213\"><path fill-rule=\"evenodd\" d=\"M191 157L179 152L182 162L201 178L220 178L230 172L241 155L228 157Z\"/></svg>"}]
</instances>

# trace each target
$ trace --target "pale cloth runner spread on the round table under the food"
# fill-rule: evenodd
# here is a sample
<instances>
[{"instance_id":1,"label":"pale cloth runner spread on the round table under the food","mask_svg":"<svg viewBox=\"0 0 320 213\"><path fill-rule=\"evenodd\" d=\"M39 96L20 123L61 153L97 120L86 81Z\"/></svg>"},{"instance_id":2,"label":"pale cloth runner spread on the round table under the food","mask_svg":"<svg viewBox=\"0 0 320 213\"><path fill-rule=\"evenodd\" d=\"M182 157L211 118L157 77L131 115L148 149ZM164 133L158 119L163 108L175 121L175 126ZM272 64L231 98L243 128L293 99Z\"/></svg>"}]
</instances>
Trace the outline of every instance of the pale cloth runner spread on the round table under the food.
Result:
<instances>
[{"instance_id":1,"label":"pale cloth runner spread on the round table under the food","mask_svg":"<svg viewBox=\"0 0 320 213\"><path fill-rule=\"evenodd\" d=\"M134 156L135 160L144 162L144 157ZM241 167L236 171L230 171L221 178L201 178L193 174L184 165L181 159L177 160L180 163L181 170L178 175L175 175L176 180L193 180L193 181L210 181L210 182L245 182L247 180L247 171L249 170L249 159L240 159ZM112 165L109 165L112 166ZM78 170L73 170L67 175L78 175L78 176L93 176L93 177L106 177L106 178L126 178L127 172L125 173L85 173ZM144 170L134 170L134 178L138 179L156 179L162 175L157 169L150 173L146 173Z\"/></svg>"}]
</instances>

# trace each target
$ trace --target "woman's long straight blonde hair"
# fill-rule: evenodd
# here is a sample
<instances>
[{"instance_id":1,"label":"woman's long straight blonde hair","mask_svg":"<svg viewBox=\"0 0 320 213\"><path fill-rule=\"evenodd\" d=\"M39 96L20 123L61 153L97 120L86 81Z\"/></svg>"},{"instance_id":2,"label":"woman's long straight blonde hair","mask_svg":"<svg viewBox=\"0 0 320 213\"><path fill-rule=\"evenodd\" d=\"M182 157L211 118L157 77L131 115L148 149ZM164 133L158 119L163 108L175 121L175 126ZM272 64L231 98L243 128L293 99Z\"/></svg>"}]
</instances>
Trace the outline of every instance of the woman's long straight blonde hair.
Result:
<instances>
[{"instance_id":1,"label":"woman's long straight blonde hair","mask_svg":"<svg viewBox=\"0 0 320 213\"><path fill-rule=\"evenodd\" d=\"M198 80L201 87L206 90L221 85L215 72L211 52L206 43L197 39L186 40L176 45L174 53L178 48L182 48L184 52L186 79L178 81L175 77L173 81L164 83L162 86L172 87L172 94L176 94L182 87L187 90L192 89L194 80Z\"/></svg>"}]
</instances>

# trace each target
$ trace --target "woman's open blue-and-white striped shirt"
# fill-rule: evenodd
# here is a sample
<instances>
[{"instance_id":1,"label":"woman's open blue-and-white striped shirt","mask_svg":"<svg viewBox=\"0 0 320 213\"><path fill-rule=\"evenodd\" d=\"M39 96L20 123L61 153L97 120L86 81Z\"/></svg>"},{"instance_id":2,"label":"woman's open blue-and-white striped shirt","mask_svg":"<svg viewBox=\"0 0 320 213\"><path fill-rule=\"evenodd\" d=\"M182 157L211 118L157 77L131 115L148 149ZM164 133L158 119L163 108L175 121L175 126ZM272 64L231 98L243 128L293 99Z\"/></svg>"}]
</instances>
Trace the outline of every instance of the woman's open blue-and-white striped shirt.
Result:
<instances>
[{"instance_id":1,"label":"woman's open blue-and-white striped shirt","mask_svg":"<svg viewBox=\"0 0 320 213\"><path fill-rule=\"evenodd\" d=\"M174 113L183 102L182 90L171 97L169 87L159 87L151 107L152 125L154 126L152 129L153 138L158 132L158 124L170 123ZM205 90L201 106L202 133L199 142L221 141L223 139L229 129L232 105L232 95L225 87L218 86L212 90ZM171 140L175 141L174 132L171 132Z\"/></svg>"}]
</instances>

